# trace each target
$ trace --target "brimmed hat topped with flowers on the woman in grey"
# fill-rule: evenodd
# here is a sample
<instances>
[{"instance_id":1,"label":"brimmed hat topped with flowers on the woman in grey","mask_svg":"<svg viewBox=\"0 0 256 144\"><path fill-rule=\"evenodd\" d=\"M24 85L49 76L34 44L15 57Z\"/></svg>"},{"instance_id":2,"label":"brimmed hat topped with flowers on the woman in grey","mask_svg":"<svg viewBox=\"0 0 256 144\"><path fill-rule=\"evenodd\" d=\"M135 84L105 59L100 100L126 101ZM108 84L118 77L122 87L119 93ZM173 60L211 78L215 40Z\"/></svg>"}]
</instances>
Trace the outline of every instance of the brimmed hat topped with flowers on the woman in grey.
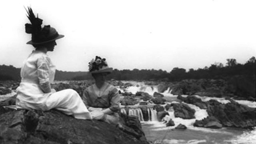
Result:
<instances>
[{"instance_id":1,"label":"brimmed hat topped with flowers on the woman in grey","mask_svg":"<svg viewBox=\"0 0 256 144\"><path fill-rule=\"evenodd\" d=\"M108 63L106 62L106 58L100 58L96 56L95 59L92 59L89 62L89 73L91 74L98 74L98 73L111 73L113 68L108 67Z\"/></svg>"}]
</instances>

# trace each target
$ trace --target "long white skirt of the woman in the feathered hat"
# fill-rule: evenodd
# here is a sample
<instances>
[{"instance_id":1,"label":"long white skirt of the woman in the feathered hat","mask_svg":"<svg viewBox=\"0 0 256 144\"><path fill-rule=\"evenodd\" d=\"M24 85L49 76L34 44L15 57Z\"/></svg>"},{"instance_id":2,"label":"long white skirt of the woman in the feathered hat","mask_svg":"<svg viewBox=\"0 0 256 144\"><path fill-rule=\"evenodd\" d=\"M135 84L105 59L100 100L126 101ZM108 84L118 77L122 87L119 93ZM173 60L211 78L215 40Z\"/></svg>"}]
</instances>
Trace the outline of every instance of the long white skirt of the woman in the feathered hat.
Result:
<instances>
[{"instance_id":1,"label":"long white skirt of the woman in the feathered hat","mask_svg":"<svg viewBox=\"0 0 256 144\"><path fill-rule=\"evenodd\" d=\"M72 89L51 92L49 94L36 94L28 96L17 92L17 108L50 110L57 109L67 115L73 115L78 119L92 119L79 94Z\"/></svg>"}]
</instances>

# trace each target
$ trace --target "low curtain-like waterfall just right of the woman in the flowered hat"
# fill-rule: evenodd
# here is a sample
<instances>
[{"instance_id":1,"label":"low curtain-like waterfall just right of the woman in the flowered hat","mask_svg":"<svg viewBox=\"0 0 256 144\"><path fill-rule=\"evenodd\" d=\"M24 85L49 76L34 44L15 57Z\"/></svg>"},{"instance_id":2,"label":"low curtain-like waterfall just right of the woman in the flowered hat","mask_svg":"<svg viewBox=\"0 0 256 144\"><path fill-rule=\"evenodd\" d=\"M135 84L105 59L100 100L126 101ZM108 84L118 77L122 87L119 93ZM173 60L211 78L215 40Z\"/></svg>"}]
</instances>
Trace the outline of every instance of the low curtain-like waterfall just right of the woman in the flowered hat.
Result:
<instances>
[{"instance_id":1,"label":"low curtain-like waterfall just right of the woman in the flowered hat","mask_svg":"<svg viewBox=\"0 0 256 144\"><path fill-rule=\"evenodd\" d=\"M148 108L148 121L158 121L157 120L157 112L156 110L153 110L153 108ZM121 113L126 114L127 112L124 108L121 108ZM143 113L140 108L129 108L128 110L128 115L129 116L138 116L138 119L143 122L145 118L143 118Z\"/></svg>"}]
</instances>

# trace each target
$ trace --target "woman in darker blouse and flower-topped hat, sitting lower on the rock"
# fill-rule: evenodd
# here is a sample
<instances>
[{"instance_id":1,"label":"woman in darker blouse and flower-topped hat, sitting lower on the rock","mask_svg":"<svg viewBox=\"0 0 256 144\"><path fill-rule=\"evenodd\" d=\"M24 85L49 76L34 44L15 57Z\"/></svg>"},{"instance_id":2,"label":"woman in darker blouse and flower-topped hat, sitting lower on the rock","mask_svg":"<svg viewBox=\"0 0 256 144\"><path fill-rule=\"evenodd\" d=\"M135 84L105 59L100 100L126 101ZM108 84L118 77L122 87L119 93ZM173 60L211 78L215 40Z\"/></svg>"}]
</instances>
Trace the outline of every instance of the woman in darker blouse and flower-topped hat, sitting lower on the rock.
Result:
<instances>
[{"instance_id":1,"label":"woman in darker blouse and flower-topped hat, sitting lower on the rock","mask_svg":"<svg viewBox=\"0 0 256 144\"><path fill-rule=\"evenodd\" d=\"M82 100L87 106L92 119L118 124L120 96L118 90L106 82L106 76L112 72L105 58L96 56L89 62L89 73L95 84L84 90Z\"/></svg>"}]
</instances>

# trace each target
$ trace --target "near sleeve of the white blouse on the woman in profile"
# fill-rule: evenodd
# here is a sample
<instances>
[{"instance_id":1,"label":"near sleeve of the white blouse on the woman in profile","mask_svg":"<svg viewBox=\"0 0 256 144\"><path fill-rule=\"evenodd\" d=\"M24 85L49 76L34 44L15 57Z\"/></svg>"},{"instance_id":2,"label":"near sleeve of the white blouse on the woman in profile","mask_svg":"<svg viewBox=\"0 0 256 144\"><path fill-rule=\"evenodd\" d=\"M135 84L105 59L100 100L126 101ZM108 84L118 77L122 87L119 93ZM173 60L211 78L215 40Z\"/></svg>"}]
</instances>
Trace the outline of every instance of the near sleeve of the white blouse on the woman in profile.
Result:
<instances>
[{"instance_id":1,"label":"near sleeve of the white blouse on the woman in profile","mask_svg":"<svg viewBox=\"0 0 256 144\"><path fill-rule=\"evenodd\" d=\"M40 88L44 93L51 92L50 86L50 61L46 58L46 56L41 56L37 60L37 76L39 80Z\"/></svg>"}]
</instances>

